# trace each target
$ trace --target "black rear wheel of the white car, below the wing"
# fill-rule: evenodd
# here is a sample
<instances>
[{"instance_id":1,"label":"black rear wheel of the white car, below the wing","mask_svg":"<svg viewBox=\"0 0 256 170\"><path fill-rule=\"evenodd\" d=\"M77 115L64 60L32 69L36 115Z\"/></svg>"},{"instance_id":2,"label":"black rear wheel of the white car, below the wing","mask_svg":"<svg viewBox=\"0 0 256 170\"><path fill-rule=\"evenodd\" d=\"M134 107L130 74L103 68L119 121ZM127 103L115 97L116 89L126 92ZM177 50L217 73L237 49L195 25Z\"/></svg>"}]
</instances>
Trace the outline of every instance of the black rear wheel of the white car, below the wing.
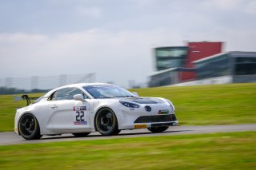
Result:
<instances>
[{"instance_id":1,"label":"black rear wheel of the white car, below the wing","mask_svg":"<svg viewBox=\"0 0 256 170\"><path fill-rule=\"evenodd\" d=\"M26 140L38 140L42 137L38 120L31 113L25 113L18 122L20 135Z\"/></svg>"}]
</instances>

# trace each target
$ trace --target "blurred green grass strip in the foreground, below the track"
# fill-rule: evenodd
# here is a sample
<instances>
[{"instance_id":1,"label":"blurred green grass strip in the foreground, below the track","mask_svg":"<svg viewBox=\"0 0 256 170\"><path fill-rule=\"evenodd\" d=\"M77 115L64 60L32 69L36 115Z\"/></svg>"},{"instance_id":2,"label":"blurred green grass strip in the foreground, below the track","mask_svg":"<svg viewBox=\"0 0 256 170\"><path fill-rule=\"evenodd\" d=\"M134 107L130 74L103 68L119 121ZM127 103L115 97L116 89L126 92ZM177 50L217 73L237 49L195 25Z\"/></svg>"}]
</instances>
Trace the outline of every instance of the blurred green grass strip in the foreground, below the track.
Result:
<instances>
[{"instance_id":1,"label":"blurred green grass strip in the foreground, below the track","mask_svg":"<svg viewBox=\"0 0 256 170\"><path fill-rule=\"evenodd\" d=\"M254 169L256 133L0 146L0 169Z\"/></svg>"}]
</instances>

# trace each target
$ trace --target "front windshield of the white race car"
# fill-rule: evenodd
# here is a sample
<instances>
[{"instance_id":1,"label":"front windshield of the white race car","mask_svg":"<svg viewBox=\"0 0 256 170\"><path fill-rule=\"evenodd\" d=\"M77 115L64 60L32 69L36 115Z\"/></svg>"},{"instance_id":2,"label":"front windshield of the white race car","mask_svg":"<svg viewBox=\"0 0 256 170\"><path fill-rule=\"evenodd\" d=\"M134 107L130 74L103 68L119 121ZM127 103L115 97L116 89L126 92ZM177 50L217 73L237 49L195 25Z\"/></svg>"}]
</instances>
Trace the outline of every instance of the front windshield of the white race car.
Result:
<instances>
[{"instance_id":1,"label":"front windshield of the white race car","mask_svg":"<svg viewBox=\"0 0 256 170\"><path fill-rule=\"evenodd\" d=\"M122 89L115 85L88 85L85 89L95 99L114 98L114 97L134 97L134 93L130 93L126 89Z\"/></svg>"}]
</instances>

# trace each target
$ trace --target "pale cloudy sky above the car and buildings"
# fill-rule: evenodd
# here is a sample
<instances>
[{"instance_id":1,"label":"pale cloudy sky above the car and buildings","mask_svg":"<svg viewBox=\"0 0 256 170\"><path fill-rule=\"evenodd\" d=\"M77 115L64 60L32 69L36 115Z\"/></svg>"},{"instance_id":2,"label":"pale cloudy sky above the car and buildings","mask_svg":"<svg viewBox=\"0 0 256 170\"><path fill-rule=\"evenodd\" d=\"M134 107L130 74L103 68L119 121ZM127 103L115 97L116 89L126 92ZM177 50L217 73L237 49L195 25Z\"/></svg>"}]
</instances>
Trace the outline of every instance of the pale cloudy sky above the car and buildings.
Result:
<instances>
[{"instance_id":1,"label":"pale cloudy sky above the car and buildings","mask_svg":"<svg viewBox=\"0 0 256 170\"><path fill-rule=\"evenodd\" d=\"M96 73L145 85L153 48L256 51L256 0L0 0L0 79Z\"/></svg>"}]
</instances>

